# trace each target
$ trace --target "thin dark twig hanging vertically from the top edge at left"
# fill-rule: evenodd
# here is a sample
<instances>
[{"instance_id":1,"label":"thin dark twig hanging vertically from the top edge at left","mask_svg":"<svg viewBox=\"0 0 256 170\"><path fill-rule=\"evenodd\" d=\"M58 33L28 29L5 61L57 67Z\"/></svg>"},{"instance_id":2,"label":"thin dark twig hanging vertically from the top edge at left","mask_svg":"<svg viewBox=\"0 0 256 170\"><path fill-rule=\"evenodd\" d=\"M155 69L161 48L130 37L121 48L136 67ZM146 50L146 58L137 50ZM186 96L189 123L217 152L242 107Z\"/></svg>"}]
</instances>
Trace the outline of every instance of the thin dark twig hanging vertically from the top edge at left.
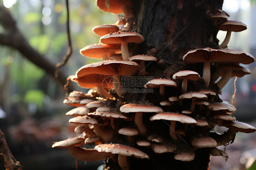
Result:
<instances>
[{"instance_id":1,"label":"thin dark twig hanging vertically from the top edge at left","mask_svg":"<svg viewBox=\"0 0 256 170\"><path fill-rule=\"evenodd\" d=\"M68 37L68 45L67 45L67 53L63 57L62 61L56 64L56 71L55 77L58 77L58 73L60 68L67 63L67 60L70 58L72 54L72 43L70 38L70 29L69 29L69 7L68 7L68 0L66 0L66 7L67 7L67 37Z\"/></svg>"}]
</instances>

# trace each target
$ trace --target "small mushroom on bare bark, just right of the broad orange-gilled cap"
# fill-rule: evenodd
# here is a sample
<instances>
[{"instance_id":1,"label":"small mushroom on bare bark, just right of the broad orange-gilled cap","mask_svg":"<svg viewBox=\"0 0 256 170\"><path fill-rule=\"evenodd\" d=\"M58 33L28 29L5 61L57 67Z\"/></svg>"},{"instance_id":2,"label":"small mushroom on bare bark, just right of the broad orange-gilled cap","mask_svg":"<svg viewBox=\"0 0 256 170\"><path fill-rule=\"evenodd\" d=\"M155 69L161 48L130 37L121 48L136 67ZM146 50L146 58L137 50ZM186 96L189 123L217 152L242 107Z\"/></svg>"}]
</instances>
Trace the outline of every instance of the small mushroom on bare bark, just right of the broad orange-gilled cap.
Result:
<instances>
[{"instance_id":1,"label":"small mushroom on bare bark, just right of the broad orange-gilled cap","mask_svg":"<svg viewBox=\"0 0 256 170\"><path fill-rule=\"evenodd\" d=\"M145 76L147 74L145 68L145 61L157 61L157 58L151 55L133 55L129 58L130 61L139 61L140 74Z\"/></svg>"}]
</instances>

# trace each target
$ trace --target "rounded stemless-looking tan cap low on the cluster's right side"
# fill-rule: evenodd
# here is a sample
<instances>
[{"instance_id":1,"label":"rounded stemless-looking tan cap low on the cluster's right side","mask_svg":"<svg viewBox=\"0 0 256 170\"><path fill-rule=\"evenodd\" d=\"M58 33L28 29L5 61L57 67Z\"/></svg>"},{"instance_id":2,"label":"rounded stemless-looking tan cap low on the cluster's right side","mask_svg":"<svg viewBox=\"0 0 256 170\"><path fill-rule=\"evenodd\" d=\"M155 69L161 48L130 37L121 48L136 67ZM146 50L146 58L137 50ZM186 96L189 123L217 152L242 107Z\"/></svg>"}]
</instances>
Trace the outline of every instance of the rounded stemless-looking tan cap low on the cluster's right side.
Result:
<instances>
[{"instance_id":1,"label":"rounded stemless-looking tan cap low on the cluster's right side","mask_svg":"<svg viewBox=\"0 0 256 170\"><path fill-rule=\"evenodd\" d=\"M209 136L200 137L200 138L192 138L191 145L198 147L198 148L210 148L210 147L216 147L217 142L213 138Z\"/></svg>"}]
</instances>

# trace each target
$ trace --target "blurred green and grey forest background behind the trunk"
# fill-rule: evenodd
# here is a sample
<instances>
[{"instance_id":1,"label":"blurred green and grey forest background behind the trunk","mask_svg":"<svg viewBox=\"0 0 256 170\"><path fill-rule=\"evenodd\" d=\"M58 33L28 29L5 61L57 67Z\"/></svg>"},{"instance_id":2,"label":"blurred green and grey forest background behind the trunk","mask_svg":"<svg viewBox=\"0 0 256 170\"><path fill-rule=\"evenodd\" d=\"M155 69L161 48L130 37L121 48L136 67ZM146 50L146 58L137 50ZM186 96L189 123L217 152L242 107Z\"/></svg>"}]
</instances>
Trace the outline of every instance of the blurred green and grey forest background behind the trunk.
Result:
<instances>
[{"instance_id":1,"label":"blurred green and grey forest background behind the trunk","mask_svg":"<svg viewBox=\"0 0 256 170\"><path fill-rule=\"evenodd\" d=\"M62 60L67 53L67 8L64 0L0 0L16 21L20 33L29 44L51 64ZM72 56L61 72L68 77L82 66L97 60L83 57L79 50L99 43L92 27L115 23L117 15L99 10L95 0L69 0ZM225 0L223 10L230 20L244 22L247 30L232 33L229 49L242 50L256 57L256 2L254 0ZM1 14L1 13L0 13ZM0 20L3 18L0 17ZM1 22L0 22L1 23ZM0 35L8 30L0 25ZM225 32L220 31L222 42ZM0 41L1 42L1 41ZM237 120L256 126L256 63L243 65L251 75L238 78L234 105ZM231 103L234 78L223 89L221 98ZM75 90L87 92L76 84ZM24 170L74 170L76 160L66 149L52 149L52 142L74 137L74 128L65 113L72 107L63 104L66 92L53 76L27 60L18 50L0 43L0 128L7 143ZM246 142L246 145L242 142ZM256 155L256 135L237 134L235 143L227 146L230 158L212 158L210 170L239 170L246 159L243 153ZM253 155L253 154L251 154ZM103 161L77 160L77 168L96 170ZM225 164L225 166L224 166ZM0 157L0 170L4 169Z\"/></svg>"}]
</instances>

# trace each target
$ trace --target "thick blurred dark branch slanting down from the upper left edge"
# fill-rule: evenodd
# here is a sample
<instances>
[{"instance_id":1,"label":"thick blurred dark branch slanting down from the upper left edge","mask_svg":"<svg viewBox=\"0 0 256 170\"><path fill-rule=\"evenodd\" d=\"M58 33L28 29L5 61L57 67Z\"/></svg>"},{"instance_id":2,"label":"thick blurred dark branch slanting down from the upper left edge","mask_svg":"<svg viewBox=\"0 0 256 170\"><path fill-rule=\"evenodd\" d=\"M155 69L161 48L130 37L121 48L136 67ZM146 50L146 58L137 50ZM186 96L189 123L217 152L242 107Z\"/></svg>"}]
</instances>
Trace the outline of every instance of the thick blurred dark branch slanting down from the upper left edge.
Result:
<instances>
[{"instance_id":1,"label":"thick blurred dark branch slanting down from the upper left edge","mask_svg":"<svg viewBox=\"0 0 256 170\"><path fill-rule=\"evenodd\" d=\"M55 77L55 65L48 61L46 56L41 55L28 43L26 38L16 27L15 20L10 15L10 11L3 5L0 5L0 24L5 29L5 32L0 34L0 44L8 45L19 50L24 57L45 70L47 74ZM59 72L58 77L56 77L56 80L61 87L66 84L66 79L67 76L62 72ZM73 91L71 86L69 87L69 91Z\"/></svg>"}]
</instances>

